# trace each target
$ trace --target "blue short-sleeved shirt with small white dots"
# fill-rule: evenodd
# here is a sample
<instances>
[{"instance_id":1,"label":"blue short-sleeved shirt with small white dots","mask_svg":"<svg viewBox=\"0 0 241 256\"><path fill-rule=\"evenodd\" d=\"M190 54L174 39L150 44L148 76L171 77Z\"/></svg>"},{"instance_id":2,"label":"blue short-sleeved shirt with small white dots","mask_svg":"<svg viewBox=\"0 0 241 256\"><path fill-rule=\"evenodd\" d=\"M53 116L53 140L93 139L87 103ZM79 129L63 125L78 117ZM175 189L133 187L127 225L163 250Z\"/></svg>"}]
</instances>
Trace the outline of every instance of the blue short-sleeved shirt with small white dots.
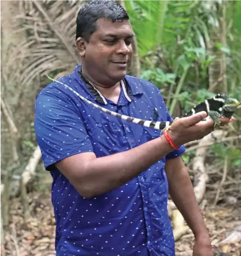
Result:
<instances>
[{"instance_id":1,"label":"blue short-sleeved shirt with small white dots","mask_svg":"<svg viewBox=\"0 0 241 256\"><path fill-rule=\"evenodd\" d=\"M161 93L151 82L126 75L115 104L86 86L80 67L77 65L72 74L59 81L114 112L145 120L171 121ZM54 163L84 152L104 157L128 151L159 137L160 131L104 113L83 102L69 88L51 82L36 99L35 132L44 166L53 177L57 256L175 255L164 167L166 159L183 154L183 146L123 186L83 198Z\"/></svg>"}]
</instances>

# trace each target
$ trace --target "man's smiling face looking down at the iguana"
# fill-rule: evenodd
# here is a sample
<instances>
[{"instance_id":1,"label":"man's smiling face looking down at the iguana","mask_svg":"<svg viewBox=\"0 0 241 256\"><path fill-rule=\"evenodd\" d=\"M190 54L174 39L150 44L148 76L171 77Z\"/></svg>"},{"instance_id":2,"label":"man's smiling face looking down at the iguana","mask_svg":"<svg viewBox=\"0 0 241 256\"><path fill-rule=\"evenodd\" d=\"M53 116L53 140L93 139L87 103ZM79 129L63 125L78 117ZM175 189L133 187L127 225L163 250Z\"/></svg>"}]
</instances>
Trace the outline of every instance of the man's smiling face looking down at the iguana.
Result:
<instances>
[{"instance_id":1,"label":"man's smiling face looking down at the iguana","mask_svg":"<svg viewBox=\"0 0 241 256\"><path fill-rule=\"evenodd\" d=\"M120 81L131 62L133 30L128 20L97 20L97 30L79 48L82 64L94 80ZM78 42L77 42L78 45Z\"/></svg>"}]
</instances>

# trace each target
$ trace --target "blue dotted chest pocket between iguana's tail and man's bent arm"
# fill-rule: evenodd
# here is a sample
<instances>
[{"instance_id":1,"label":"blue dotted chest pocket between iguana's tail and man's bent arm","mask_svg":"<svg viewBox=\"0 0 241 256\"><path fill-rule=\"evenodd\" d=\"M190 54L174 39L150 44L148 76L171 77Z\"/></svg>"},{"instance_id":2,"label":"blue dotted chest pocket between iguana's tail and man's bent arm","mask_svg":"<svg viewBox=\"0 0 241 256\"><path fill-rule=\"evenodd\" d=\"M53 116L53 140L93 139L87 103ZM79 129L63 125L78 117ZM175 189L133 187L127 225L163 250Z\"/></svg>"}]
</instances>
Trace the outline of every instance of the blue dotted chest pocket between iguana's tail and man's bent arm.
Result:
<instances>
[{"instance_id":1,"label":"blue dotted chest pocket between iguana's tail and man's bent arm","mask_svg":"<svg viewBox=\"0 0 241 256\"><path fill-rule=\"evenodd\" d=\"M120 152L122 132L118 123L105 120L86 120L86 129L97 157Z\"/></svg>"}]
</instances>

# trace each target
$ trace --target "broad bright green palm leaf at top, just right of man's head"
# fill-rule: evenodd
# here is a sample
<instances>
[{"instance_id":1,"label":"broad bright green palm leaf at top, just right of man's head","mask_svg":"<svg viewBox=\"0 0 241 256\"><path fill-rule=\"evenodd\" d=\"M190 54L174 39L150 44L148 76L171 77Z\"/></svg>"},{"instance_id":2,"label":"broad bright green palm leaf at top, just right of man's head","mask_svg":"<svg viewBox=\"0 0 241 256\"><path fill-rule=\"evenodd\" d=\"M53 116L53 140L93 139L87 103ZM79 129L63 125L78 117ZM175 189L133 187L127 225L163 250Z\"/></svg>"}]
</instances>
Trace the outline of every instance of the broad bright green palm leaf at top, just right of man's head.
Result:
<instances>
[{"instance_id":1,"label":"broad bright green palm leaf at top, just right of man's head","mask_svg":"<svg viewBox=\"0 0 241 256\"><path fill-rule=\"evenodd\" d=\"M142 56L156 46L176 43L187 29L189 17L183 14L196 5L191 1L125 1Z\"/></svg>"}]
</instances>

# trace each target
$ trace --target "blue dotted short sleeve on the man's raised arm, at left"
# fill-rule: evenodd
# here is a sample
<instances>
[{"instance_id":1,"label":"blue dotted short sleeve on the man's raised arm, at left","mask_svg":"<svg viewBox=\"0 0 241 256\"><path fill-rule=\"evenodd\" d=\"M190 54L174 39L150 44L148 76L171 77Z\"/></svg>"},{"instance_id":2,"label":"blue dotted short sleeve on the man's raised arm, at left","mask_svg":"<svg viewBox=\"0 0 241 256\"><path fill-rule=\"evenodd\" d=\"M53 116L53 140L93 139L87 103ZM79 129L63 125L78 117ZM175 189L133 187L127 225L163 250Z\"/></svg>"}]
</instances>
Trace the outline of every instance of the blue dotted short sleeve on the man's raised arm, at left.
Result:
<instances>
[{"instance_id":1,"label":"blue dotted short sleeve on the man's raised arm, at left","mask_svg":"<svg viewBox=\"0 0 241 256\"><path fill-rule=\"evenodd\" d=\"M80 112L71 98L57 91L44 89L35 103L35 133L46 170L71 155L93 152Z\"/></svg>"}]
</instances>

